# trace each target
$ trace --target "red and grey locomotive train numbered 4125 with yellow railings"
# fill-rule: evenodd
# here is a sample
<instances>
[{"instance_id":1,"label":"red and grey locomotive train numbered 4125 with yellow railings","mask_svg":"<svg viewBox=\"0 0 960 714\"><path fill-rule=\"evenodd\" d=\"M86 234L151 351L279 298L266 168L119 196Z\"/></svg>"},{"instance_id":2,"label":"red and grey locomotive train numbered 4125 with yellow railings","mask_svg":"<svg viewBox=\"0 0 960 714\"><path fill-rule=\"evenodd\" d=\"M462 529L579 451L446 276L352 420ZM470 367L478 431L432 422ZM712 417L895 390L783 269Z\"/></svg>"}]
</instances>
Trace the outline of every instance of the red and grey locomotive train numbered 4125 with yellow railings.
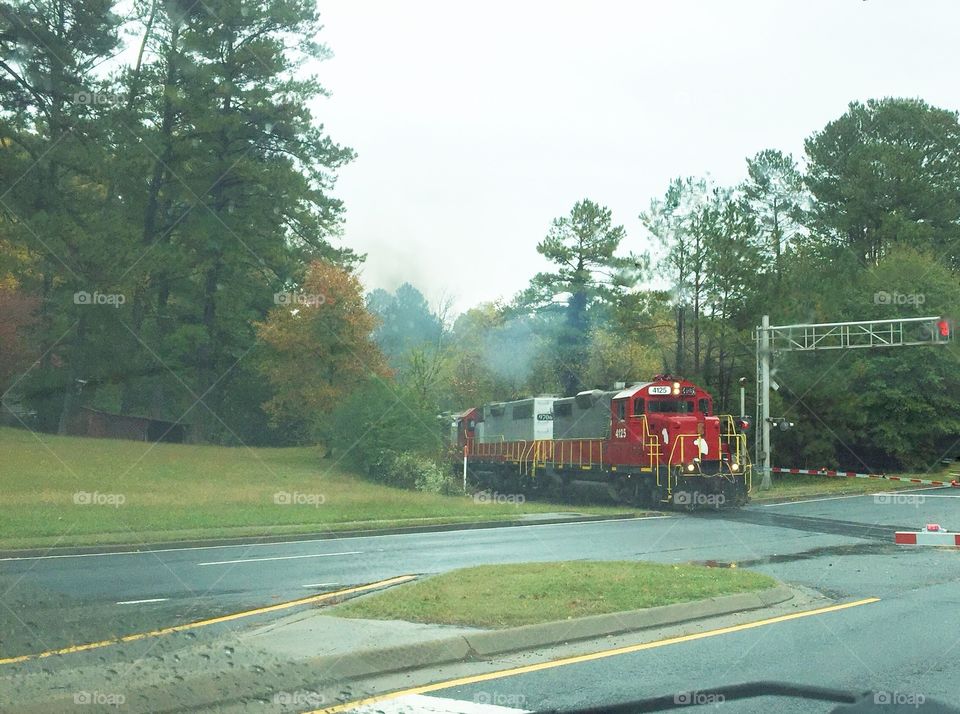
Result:
<instances>
[{"instance_id":1,"label":"red and grey locomotive train numbered 4125 with yellow railings","mask_svg":"<svg viewBox=\"0 0 960 714\"><path fill-rule=\"evenodd\" d=\"M452 468L498 493L678 510L746 504L749 420L713 413L705 389L669 374L572 397L495 402L450 415Z\"/></svg>"}]
</instances>

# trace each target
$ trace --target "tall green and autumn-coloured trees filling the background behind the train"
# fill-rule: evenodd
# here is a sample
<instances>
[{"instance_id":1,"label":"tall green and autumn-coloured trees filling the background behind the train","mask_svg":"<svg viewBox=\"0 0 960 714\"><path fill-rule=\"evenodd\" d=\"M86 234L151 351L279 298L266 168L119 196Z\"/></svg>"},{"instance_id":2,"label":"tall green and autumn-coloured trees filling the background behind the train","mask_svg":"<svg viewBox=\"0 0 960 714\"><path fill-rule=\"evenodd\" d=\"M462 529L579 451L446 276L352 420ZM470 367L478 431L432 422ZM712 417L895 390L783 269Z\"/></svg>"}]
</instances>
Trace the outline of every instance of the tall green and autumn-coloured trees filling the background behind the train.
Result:
<instances>
[{"instance_id":1,"label":"tall green and autumn-coloured trees filling the background behind the train","mask_svg":"<svg viewBox=\"0 0 960 714\"><path fill-rule=\"evenodd\" d=\"M438 449L441 411L656 372L734 411L763 314L958 315L957 113L893 98L851 104L802 157L761 151L739 185L638 196L642 238L587 198L544 216L529 240L552 268L503 303L365 295L333 192L353 152L302 72L319 29L307 0L0 1L8 421L63 431L94 406L373 469ZM923 468L960 439L952 346L774 365L785 465Z\"/></svg>"}]
</instances>

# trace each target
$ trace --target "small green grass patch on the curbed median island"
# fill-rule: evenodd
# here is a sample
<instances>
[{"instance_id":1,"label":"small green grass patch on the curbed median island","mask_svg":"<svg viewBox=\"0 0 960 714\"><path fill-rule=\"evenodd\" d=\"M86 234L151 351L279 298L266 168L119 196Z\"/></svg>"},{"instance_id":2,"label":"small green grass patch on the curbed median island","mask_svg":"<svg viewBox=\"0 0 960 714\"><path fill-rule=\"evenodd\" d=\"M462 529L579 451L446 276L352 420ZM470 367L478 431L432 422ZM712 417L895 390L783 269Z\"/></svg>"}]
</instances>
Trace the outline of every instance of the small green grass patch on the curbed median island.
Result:
<instances>
[{"instance_id":1,"label":"small green grass patch on the curbed median island","mask_svg":"<svg viewBox=\"0 0 960 714\"><path fill-rule=\"evenodd\" d=\"M519 563L454 570L330 610L337 617L516 627L762 590L749 570L636 561Z\"/></svg>"}]
</instances>

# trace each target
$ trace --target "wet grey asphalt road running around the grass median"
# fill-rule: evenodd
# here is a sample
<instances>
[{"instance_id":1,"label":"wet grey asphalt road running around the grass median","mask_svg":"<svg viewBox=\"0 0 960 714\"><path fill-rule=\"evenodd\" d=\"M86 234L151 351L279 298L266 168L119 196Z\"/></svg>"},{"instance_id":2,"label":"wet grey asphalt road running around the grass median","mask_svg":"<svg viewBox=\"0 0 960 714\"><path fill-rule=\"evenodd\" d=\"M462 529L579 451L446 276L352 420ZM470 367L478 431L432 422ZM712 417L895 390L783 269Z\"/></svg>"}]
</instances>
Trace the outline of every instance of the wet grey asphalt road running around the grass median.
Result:
<instances>
[{"instance_id":1,"label":"wet grey asphalt road running around the grass median","mask_svg":"<svg viewBox=\"0 0 960 714\"><path fill-rule=\"evenodd\" d=\"M457 702L531 710L777 679L958 703L960 551L892 544L893 530L917 530L929 522L960 530L960 493L820 499L722 515L5 559L0 659L406 573L573 559L716 561L736 562L839 601L880 601L430 696L453 711ZM238 621L220 627L246 626ZM91 666L104 661L98 651L67 657ZM756 700L738 703L736 710L771 706L771 700ZM803 702L783 710L829 709L816 706Z\"/></svg>"}]
</instances>

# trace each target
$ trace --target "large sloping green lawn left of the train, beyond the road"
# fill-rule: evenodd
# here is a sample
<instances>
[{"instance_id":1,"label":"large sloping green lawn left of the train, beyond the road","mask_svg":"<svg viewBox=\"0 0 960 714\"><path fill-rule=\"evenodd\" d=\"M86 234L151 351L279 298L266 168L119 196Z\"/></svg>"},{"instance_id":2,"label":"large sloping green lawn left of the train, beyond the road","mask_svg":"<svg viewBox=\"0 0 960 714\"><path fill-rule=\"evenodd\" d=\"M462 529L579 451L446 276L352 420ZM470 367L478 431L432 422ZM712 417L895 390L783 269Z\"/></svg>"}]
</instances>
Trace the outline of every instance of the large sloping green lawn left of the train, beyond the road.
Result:
<instances>
[{"instance_id":1,"label":"large sloping green lawn left of the train, beyond the road","mask_svg":"<svg viewBox=\"0 0 960 714\"><path fill-rule=\"evenodd\" d=\"M0 548L638 512L543 501L476 503L470 496L389 488L322 456L315 447L149 444L0 428Z\"/></svg>"}]
</instances>

